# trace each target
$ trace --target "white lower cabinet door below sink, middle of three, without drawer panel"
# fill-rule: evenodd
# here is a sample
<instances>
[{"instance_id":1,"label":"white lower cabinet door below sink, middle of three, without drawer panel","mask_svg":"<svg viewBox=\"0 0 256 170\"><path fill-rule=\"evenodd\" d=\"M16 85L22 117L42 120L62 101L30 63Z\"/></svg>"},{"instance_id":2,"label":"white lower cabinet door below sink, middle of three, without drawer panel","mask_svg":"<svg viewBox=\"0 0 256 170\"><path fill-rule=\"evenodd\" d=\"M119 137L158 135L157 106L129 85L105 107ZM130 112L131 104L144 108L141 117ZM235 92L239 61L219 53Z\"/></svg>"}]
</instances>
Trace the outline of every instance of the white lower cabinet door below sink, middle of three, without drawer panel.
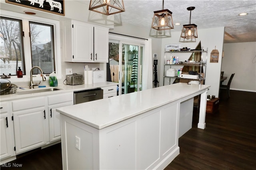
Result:
<instances>
[{"instance_id":1,"label":"white lower cabinet door below sink, middle of three, without drawer panel","mask_svg":"<svg viewBox=\"0 0 256 170\"><path fill-rule=\"evenodd\" d=\"M49 125L44 107L14 112L13 117L16 154L46 144Z\"/></svg>"}]
</instances>

